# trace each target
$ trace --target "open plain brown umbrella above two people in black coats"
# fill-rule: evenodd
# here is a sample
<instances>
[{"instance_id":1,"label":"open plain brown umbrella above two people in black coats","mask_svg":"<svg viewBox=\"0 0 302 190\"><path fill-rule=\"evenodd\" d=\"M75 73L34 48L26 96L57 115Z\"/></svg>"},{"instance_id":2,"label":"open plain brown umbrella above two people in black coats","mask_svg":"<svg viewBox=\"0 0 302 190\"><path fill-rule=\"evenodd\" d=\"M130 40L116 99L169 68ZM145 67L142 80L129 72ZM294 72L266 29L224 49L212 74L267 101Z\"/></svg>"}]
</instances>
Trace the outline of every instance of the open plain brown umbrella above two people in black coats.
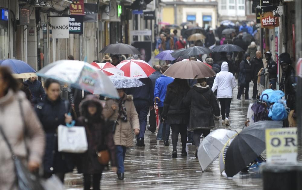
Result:
<instances>
[{"instance_id":1,"label":"open plain brown umbrella above two people in black coats","mask_svg":"<svg viewBox=\"0 0 302 190\"><path fill-rule=\"evenodd\" d=\"M198 61L179 61L164 73L178 79L200 79L215 76L216 73L206 64Z\"/></svg>"}]
</instances>

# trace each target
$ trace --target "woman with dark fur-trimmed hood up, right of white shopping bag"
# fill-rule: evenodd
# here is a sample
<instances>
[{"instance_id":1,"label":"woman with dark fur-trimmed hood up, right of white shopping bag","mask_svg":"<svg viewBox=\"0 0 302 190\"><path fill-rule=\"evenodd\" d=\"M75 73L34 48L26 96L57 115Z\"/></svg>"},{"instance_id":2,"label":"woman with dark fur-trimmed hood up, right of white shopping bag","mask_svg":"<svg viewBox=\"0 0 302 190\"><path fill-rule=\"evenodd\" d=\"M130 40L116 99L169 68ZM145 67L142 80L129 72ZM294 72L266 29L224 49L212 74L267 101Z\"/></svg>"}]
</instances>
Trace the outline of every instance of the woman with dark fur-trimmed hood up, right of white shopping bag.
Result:
<instances>
[{"instance_id":1,"label":"woman with dark fur-trimmed hood up, right of white shopping bag","mask_svg":"<svg viewBox=\"0 0 302 190\"><path fill-rule=\"evenodd\" d=\"M88 95L80 104L81 117L77 120L76 126L84 126L88 142L88 151L79 154L77 169L84 174L84 189L90 189L91 175L93 190L100 189L100 180L104 170L104 164L98 161L100 151L107 151L111 158L111 167L117 171L115 160L115 146L113 134L105 126L102 116L103 107L95 95Z\"/></svg>"}]
</instances>

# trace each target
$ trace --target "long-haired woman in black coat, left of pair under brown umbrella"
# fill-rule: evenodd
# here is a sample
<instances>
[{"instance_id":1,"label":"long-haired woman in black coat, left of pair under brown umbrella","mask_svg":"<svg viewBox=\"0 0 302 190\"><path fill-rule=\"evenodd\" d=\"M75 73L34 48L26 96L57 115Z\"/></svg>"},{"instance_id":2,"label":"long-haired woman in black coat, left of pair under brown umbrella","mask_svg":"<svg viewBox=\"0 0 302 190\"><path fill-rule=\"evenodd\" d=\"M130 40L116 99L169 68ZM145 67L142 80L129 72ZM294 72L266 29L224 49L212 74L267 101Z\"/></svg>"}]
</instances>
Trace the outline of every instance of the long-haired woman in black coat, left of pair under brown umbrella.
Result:
<instances>
[{"instance_id":1,"label":"long-haired woman in black coat, left of pair under brown umbrella","mask_svg":"<svg viewBox=\"0 0 302 190\"><path fill-rule=\"evenodd\" d=\"M177 142L180 133L182 141L182 156L187 156L187 125L189 123L189 110L182 103L190 87L186 79L174 79L168 85L167 93L164 100L162 118L172 128L172 158L177 158Z\"/></svg>"}]
</instances>

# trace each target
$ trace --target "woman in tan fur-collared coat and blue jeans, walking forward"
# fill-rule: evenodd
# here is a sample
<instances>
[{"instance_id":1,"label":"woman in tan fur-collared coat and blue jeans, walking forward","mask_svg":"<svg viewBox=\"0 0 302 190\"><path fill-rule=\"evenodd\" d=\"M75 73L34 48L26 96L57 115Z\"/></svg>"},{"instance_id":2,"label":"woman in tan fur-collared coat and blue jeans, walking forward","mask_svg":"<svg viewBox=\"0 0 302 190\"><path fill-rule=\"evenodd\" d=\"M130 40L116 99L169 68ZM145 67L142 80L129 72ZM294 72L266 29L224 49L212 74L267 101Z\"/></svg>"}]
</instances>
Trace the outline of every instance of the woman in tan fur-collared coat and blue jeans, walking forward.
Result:
<instances>
[{"instance_id":1,"label":"woman in tan fur-collared coat and blue jeans, walking forward","mask_svg":"<svg viewBox=\"0 0 302 190\"><path fill-rule=\"evenodd\" d=\"M117 177L124 179L124 160L126 148L132 147L133 131L135 135L140 132L140 123L133 103L133 96L126 95L124 89L117 89L120 96L118 100L105 98L103 115L110 121L117 121L114 132L114 144L117 159Z\"/></svg>"}]
</instances>

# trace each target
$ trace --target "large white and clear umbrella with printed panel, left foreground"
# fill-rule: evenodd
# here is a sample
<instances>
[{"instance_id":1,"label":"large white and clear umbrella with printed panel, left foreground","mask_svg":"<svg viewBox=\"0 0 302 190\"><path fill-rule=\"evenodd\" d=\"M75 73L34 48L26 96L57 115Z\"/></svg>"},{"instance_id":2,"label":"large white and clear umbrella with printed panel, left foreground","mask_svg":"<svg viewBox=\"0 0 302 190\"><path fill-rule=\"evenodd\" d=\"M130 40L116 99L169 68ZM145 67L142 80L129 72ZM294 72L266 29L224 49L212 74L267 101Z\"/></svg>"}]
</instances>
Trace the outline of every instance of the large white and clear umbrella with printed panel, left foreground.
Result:
<instances>
[{"instance_id":1,"label":"large white and clear umbrella with printed panel, left foreground","mask_svg":"<svg viewBox=\"0 0 302 190\"><path fill-rule=\"evenodd\" d=\"M93 94L119 98L110 79L95 66L83 61L56 61L41 69L37 75L68 83L74 88L84 89Z\"/></svg>"}]
</instances>

